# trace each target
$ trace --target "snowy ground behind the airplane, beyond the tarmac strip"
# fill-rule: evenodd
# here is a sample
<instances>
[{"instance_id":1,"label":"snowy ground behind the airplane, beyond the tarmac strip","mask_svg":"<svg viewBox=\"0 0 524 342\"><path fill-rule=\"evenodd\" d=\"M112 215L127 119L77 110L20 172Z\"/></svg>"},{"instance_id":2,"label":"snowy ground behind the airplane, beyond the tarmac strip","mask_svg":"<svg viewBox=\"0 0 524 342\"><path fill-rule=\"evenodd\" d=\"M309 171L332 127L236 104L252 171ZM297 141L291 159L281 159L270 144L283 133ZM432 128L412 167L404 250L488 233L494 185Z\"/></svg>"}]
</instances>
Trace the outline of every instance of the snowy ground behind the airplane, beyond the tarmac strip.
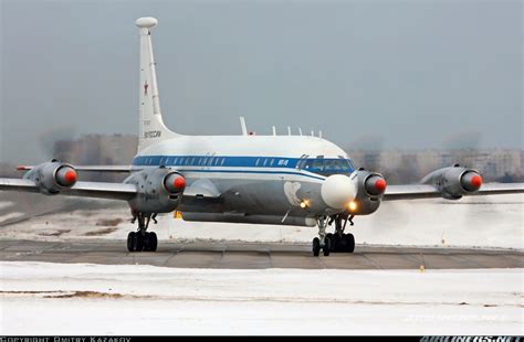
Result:
<instances>
[{"instance_id":1,"label":"snowy ground behind the airplane, beyond the tarmac strip","mask_svg":"<svg viewBox=\"0 0 524 342\"><path fill-rule=\"evenodd\" d=\"M7 214L9 215L9 213ZM135 229L125 206L78 210L33 217L0 228L0 238L63 241L125 239ZM0 221L6 220L0 215ZM357 244L524 248L524 194L472 196L461 201L385 202L377 213L355 218ZM199 223L158 217L160 239L308 243L316 227Z\"/></svg>"}]
</instances>

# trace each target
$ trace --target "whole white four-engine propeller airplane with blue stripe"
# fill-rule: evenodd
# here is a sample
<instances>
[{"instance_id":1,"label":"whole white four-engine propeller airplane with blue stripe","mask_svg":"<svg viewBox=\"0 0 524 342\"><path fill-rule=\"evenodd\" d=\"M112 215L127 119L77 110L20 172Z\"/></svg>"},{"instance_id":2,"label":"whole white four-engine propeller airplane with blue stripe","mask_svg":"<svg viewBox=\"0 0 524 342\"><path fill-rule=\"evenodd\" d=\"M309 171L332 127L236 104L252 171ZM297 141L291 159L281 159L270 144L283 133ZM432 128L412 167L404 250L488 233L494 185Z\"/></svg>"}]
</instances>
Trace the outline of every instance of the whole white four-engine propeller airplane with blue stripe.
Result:
<instances>
[{"instance_id":1,"label":"whole white four-engine propeller airplane with blue stripe","mask_svg":"<svg viewBox=\"0 0 524 342\"><path fill-rule=\"evenodd\" d=\"M149 232L157 214L180 212L185 221L295 225L318 228L312 252L353 253L346 233L355 216L375 213L382 201L523 193L524 183L486 183L476 170L454 164L419 184L387 185L382 174L356 168L333 142L314 136L185 136L163 120L153 54L151 17L136 20L140 36L139 141L130 165L72 165L51 160L22 179L0 179L0 190L127 201L137 224L128 252L155 252ZM122 183L78 181L78 172L128 172ZM326 233L334 225L334 233Z\"/></svg>"}]
</instances>

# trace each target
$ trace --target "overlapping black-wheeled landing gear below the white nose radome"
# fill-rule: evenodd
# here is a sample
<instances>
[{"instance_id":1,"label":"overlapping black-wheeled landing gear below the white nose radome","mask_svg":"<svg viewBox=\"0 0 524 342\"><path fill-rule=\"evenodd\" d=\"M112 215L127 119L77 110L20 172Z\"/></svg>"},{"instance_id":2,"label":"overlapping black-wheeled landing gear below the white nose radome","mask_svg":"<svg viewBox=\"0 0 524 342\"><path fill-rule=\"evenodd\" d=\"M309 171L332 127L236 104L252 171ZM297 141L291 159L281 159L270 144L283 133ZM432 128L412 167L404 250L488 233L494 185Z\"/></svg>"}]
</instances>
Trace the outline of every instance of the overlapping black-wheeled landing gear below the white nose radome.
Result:
<instances>
[{"instance_id":1,"label":"overlapping black-wheeled landing gear below the white nose radome","mask_svg":"<svg viewBox=\"0 0 524 342\"><path fill-rule=\"evenodd\" d=\"M329 253L353 253L355 250L355 236L353 234L344 234L346 224L349 221L353 225L353 216L346 214L338 214L332 216L329 221L326 216L318 217L318 237L313 239L313 255L318 256L321 249L324 256ZM335 222L335 233L327 233L326 227Z\"/></svg>"}]
</instances>

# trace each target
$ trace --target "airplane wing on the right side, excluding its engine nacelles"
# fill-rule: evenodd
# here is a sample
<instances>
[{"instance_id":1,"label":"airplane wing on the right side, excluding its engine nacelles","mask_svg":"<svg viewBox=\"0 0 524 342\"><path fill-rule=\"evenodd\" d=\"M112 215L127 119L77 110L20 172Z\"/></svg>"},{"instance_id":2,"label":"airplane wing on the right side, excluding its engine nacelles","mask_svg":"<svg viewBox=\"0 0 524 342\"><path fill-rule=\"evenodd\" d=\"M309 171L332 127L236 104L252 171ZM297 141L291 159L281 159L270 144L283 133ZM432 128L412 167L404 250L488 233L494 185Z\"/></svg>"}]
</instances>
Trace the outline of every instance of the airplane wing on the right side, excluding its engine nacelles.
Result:
<instances>
[{"instance_id":1,"label":"airplane wing on the right side, excluding its engine nacelles","mask_svg":"<svg viewBox=\"0 0 524 342\"><path fill-rule=\"evenodd\" d=\"M524 193L524 183L485 183L481 189L468 195L490 195ZM385 201L419 200L441 197L442 193L429 184L388 185Z\"/></svg>"}]
</instances>

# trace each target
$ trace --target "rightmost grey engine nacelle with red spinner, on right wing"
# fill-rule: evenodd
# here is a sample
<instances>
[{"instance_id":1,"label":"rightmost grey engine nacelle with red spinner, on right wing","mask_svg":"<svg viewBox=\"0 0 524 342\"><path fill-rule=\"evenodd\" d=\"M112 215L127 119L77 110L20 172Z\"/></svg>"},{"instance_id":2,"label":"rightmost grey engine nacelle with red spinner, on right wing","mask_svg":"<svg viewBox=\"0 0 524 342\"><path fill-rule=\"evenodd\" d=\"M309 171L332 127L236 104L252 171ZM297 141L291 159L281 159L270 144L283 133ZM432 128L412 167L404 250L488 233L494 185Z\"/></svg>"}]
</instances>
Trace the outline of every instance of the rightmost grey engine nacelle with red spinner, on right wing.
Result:
<instances>
[{"instance_id":1,"label":"rightmost grey engine nacelle with red spinner, on right wing","mask_svg":"<svg viewBox=\"0 0 524 342\"><path fill-rule=\"evenodd\" d=\"M455 164L431 172L422 179L421 183L434 186L444 199L460 200L463 195L481 188L482 177L476 170Z\"/></svg>"}]
</instances>

